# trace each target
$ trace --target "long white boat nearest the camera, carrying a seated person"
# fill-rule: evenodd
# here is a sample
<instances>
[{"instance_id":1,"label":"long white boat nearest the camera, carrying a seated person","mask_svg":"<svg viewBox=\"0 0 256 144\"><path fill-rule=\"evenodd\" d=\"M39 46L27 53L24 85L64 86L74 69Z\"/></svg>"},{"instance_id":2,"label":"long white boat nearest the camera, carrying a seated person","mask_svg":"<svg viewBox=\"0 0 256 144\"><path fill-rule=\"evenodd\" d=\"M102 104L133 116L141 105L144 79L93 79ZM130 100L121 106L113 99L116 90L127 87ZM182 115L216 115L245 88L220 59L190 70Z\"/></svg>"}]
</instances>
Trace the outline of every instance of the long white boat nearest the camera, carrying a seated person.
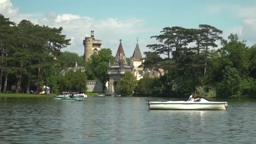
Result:
<instances>
[{"instance_id":1,"label":"long white boat nearest the camera, carrying a seated person","mask_svg":"<svg viewBox=\"0 0 256 144\"><path fill-rule=\"evenodd\" d=\"M152 110L226 110L228 102L207 101L148 101Z\"/></svg>"}]
</instances>

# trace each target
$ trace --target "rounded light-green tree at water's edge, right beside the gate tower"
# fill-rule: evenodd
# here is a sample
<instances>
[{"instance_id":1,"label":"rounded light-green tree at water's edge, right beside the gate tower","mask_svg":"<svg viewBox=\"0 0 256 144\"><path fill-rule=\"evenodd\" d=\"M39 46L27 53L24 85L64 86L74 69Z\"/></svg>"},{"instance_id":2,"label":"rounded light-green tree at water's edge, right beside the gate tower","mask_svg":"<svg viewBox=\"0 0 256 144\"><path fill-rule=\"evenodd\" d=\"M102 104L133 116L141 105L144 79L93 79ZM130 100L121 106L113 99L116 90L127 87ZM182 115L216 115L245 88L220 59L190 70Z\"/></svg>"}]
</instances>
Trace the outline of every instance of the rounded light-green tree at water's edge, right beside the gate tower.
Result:
<instances>
[{"instance_id":1,"label":"rounded light-green tree at water's edge, right beside the gate tower","mask_svg":"<svg viewBox=\"0 0 256 144\"><path fill-rule=\"evenodd\" d=\"M136 77L130 71L125 71L123 78L118 83L117 91L122 96L131 95L135 90L136 83Z\"/></svg>"}]
</instances>

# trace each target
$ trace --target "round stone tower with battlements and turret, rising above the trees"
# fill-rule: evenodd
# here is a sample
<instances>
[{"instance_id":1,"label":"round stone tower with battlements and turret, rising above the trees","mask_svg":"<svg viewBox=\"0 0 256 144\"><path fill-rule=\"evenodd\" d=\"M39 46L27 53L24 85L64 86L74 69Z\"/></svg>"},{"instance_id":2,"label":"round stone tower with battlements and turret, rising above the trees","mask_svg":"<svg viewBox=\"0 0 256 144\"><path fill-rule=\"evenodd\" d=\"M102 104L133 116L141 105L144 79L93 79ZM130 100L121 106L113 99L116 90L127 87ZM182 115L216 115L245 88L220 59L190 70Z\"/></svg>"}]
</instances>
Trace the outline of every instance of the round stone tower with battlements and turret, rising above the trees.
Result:
<instances>
[{"instance_id":1,"label":"round stone tower with battlements and turret, rising above the trees","mask_svg":"<svg viewBox=\"0 0 256 144\"><path fill-rule=\"evenodd\" d=\"M91 37L85 37L84 44L84 62L88 61L91 55L97 55L101 50L102 41L94 38L94 31L91 31Z\"/></svg>"}]
</instances>

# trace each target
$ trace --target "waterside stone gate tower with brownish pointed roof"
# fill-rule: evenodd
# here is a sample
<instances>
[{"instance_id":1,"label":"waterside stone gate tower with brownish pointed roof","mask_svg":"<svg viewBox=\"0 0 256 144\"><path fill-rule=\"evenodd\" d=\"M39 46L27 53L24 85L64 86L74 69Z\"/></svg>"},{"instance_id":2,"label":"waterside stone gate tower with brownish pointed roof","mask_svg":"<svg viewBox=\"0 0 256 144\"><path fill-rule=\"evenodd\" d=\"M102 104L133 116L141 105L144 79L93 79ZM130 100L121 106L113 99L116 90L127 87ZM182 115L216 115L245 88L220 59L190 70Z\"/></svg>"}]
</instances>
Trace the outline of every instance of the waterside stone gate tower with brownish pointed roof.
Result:
<instances>
[{"instance_id":1,"label":"waterside stone gate tower with brownish pointed roof","mask_svg":"<svg viewBox=\"0 0 256 144\"><path fill-rule=\"evenodd\" d=\"M132 63L129 65L126 62L126 57L123 49L123 45L120 40L117 54L115 55L114 63L111 65L110 59L108 63L108 86L106 89L106 95L117 95L117 85L123 77L125 71L131 71L133 73Z\"/></svg>"}]
</instances>

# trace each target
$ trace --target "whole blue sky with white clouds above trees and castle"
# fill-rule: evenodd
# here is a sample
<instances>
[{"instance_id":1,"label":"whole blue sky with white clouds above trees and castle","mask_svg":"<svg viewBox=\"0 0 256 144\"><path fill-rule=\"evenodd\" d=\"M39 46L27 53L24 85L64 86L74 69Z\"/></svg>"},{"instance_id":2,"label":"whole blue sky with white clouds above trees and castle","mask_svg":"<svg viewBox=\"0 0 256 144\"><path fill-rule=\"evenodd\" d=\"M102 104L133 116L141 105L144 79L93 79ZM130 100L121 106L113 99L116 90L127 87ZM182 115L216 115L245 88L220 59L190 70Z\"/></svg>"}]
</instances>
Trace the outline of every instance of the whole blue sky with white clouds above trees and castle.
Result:
<instances>
[{"instance_id":1,"label":"whole blue sky with white clouds above trees and castle","mask_svg":"<svg viewBox=\"0 0 256 144\"><path fill-rule=\"evenodd\" d=\"M83 40L93 30L101 48L115 56L122 39L126 57L132 56L137 43L141 52L149 51L151 39L164 27L199 28L200 24L223 31L222 37L237 33L247 45L256 43L256 0L0 0L0 13L19 23L63 27L71 45L62 51L84 53Z\"/></svg>"}]
</instances>

